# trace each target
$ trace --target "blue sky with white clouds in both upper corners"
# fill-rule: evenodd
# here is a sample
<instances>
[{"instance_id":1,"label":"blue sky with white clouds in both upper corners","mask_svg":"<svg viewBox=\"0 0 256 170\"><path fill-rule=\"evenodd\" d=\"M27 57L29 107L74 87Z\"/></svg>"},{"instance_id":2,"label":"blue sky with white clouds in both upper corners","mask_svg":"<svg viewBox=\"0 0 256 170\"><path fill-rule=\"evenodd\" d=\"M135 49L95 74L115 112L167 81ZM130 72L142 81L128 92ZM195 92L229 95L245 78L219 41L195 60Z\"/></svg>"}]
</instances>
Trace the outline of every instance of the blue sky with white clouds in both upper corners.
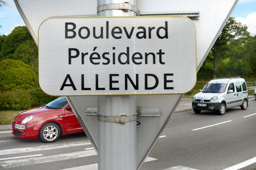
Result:
<instances>
[{"instance_id":1,"label":"blue sky with white clouds in both upper corners","mask_svg":"<svg viewBox=\"0 0 256 170\"><path fill-rule=\"evenodd\" d=\"M225 0L223 0L225 1ZM25 25L13 0L5 0L8 6L0 8L0 35L8 35L15 27ZM246 24L251 36L256 35L256 0L240 0L232 14L238 22Z\"/></svg>"}]
</instances>

